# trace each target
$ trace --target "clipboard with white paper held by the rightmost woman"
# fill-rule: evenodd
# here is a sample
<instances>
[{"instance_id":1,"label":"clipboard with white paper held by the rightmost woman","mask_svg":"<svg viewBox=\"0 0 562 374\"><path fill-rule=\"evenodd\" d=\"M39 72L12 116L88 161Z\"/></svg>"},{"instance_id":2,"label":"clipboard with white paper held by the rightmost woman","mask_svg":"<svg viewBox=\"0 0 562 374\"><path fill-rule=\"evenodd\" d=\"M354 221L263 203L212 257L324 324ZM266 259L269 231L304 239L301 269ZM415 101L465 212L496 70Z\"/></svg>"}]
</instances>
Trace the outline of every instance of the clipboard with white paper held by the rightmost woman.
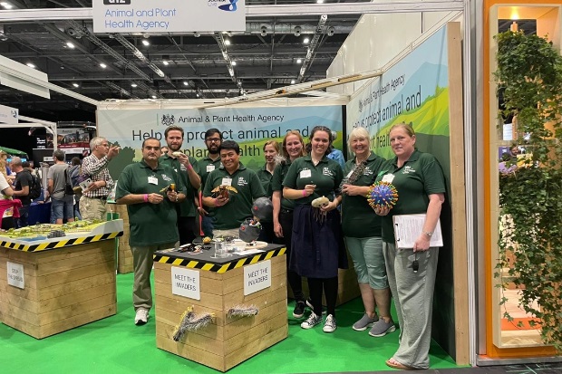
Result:
<instances>
[{"instance_id":1,"label":"clipboard with white paper held by the rightmost woman","mask_svg":"<svg viewBox=\"0 0 562 374\"><path fill-rule=\"evenodd\" d=\"M392 216L396 248L413 248L414 242L423 231L424 223L424 214ZM437 225L435 225L435 230L433 230L433 235L431 235L430 246L443 246L441 219L437 220Z\"/></svg>"}]
</instances>

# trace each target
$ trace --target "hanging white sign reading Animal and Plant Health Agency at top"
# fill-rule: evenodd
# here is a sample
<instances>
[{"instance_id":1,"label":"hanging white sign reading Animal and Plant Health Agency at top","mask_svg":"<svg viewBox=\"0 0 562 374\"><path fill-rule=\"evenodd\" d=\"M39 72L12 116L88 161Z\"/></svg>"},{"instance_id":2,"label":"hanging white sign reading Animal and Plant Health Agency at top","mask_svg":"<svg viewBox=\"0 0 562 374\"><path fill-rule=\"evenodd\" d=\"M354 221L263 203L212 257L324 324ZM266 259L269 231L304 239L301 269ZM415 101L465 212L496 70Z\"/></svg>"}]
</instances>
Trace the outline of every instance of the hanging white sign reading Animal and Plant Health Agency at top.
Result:
<instances>
[{"instance_id":1,"label":"hanging white sign reading Animal and Plant Health Agency at top","mask_svg":"<svg viewBox=\"0 0 562 374\"><path fill-rule=\"evenodd\" d=\"M93 1L93 32L167 34L244 31L246 30L245 1Z\"/></svg>"}]
</instances>

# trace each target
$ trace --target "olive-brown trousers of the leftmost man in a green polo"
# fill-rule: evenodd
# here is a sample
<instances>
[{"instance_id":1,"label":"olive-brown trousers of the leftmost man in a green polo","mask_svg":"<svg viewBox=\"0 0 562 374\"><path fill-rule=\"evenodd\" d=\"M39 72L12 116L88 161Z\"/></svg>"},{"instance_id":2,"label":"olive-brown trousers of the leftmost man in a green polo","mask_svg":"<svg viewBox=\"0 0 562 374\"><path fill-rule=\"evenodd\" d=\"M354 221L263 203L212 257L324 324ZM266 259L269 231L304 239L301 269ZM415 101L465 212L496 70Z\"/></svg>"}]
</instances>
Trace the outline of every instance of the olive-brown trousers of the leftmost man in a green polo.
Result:
<instances>
[{"instance_id":1,"label":"olive-brown trousers of the leftmost man in a green polo","mask_svg":"<svg viewBox=\"0 0 562 374\"><path fill-rule=\"evenodd\" d=\"M150 311L152 308L152 290L150 273L152 272L152 255L160 249L172 248L176 242L163 245L131 246L134 281L132 284L132 304L135 311L139 308Z\"/></svg>"}]
</instances>

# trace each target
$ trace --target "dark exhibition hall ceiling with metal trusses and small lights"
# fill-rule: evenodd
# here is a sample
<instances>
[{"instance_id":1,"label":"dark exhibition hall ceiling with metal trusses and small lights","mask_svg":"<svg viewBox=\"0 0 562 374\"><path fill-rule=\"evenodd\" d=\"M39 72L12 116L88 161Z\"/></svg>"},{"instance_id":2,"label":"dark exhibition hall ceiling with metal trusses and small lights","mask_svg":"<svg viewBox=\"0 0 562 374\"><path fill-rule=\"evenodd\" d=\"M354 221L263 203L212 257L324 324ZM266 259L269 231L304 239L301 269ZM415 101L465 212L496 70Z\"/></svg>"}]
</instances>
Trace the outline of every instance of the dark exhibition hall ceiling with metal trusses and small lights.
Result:
<instances>
[{"instance_id":1,"label":"dark exhibition hall ceiling with metal trusses and small lights","mask_svg":"<svg viewBox=\"0 0 562 374\"><path fill-rule=\"evenodd\" d=\"M367 2L324 1L325 5ZM299 5L304 11L316 3L317 0L246 0L249 6ZM91 8L92 0L0 2L0 10L6 6L13 6L12 10ZM163 35L93 34L92 20L6 22L0 24L0 54L33 64L48 74L49 82L96 101L222 99L325 78L359 16L305 12L294 16L252 16L247 17L244 32ZM56 117L64 110L95 110L91 104L53 91L51 100L46 100L5 86L0 86L0 103L23 113L34 111L48 117Z\"/></svg>"}]
</instances>

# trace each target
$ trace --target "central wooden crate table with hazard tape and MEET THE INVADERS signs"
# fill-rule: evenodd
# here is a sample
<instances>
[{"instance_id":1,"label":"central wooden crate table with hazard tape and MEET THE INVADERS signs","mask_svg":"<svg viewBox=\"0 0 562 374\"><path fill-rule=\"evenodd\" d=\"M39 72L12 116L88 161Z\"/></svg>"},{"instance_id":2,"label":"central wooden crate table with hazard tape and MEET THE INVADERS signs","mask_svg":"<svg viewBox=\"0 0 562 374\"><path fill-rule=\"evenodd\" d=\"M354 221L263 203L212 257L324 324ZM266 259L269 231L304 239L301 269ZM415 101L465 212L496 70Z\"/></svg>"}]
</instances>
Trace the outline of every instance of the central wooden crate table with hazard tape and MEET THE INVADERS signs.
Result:
<instances>
[{"instance_id":1,"label":"central wooden crate table with hazard tape and MEET THE INVADERS signs","mask_svg":"<svg viewBox=\"0 0 562 374\"><path fill-rule=\"evenodd\" d=\"M156 345L227 371L287 336L285 247L267 245L259 254L227 258L212 258L213 254L155 254ZM228 317L228 309L251 305L258 308L257 315ZM176 327L190 307L198 315L214 313L214 318L207 327L187 331L174 341Z\"/></svg>"}]
</instances>

